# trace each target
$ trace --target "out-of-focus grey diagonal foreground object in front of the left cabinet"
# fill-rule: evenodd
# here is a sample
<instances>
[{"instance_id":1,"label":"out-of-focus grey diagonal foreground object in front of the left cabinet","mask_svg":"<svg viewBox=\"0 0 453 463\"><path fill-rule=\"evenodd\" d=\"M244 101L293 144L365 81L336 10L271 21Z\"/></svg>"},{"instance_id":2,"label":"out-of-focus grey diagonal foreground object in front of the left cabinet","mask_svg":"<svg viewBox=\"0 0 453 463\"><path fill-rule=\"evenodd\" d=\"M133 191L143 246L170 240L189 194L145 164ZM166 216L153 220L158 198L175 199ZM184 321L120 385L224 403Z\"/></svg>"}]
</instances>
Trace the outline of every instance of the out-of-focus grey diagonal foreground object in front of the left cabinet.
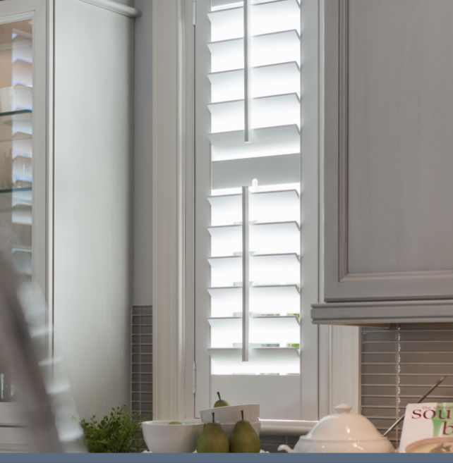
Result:
<instances>
[{"instance_id":1,"label":"out-of-focus grey diagonal foreground object in front of the left cabinet","mask_svg":"<svg viewBox=\"0 0 453 463\"><path fill-rule=\"evenodd\" d=\"M0 352L17 384L30 451L80 452L83 432L63 364L48 357L45 313L42 292L19 286L8 255L1 254Z\"/></svg>"}]
</instances>

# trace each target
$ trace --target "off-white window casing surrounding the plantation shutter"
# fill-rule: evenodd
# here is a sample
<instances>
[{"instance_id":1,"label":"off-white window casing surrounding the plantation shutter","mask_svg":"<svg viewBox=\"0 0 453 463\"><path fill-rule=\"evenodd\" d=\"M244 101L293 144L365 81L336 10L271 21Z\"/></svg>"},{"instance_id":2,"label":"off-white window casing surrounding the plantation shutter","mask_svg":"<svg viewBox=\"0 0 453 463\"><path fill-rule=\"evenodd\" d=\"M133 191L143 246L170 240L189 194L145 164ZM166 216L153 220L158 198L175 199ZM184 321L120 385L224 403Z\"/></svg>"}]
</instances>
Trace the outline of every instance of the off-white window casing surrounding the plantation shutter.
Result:
<instances>
[{"instance_id":1,"label":"off-white window casing surrounding the plantation shutter","mask_svg":"<svg viewBox=\"0 0 453 463\"><path fill-rule=\"evenodd\" d=\"M302 0L302 8L310 18L318 18L317 23L307 21L302 32L303 66L306 66L305 74L310 76L303 87L319 89L303 94L307 108L303 132L311 133L303 136L303 153L319 152L320 156L319 161L313 156L311 161L303 158L302 162L318 163L311 169L312 173L313 168L319 172L318 192L313 194L318 196L320 211L309 212L318 220L315 226L318 230L311 236L306 235L310 242L303 242L303 247L306 252L311 249L312 258L318 259L320 283L314 290L319 300L322 300L323 273L324 78L323 56L318 49L322 50L320 18L323 18L324 1ZM195 409L193 43L193 1L152 0L153 419L193 418ZM306 278L313 275L303 278L307 281ZM331 413L340 402L349 403L358 412L358 328L313 326L309 324L309 304L304 301L302 304L303 330L318 332L318 340L302 350L303 355L308 356L307 362L312 362L313 373L317 374L316 381L302 383L303 416L310 421L317 420ZM312 424L305 421L269 421L263 424L262 433L305 433L310 426Z\"/></svg>"}]
</instances>

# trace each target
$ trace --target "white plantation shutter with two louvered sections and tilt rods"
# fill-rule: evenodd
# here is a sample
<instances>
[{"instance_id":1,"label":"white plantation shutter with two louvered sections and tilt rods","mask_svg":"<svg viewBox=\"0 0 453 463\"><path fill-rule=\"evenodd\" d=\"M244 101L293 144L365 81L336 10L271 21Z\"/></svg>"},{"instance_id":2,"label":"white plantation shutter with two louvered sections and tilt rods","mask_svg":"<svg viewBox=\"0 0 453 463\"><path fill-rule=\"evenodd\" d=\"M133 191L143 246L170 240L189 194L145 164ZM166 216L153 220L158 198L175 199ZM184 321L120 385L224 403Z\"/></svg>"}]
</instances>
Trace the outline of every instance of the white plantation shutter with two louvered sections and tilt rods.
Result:
<instances>
[{"instance_id":1,"label":"white plantation shutter with two louvered sections and tilt rods","mask_svg":"<svg viewBox=\"0 0 453 463\"><path fill-rule=\"evenodd\" d=\"M243 2L197 1L196 394L210 400L195 396L196 414L220 391L260 403L261 418L301 419L300 8L250 2L247 63Z\"/></svg>"}]
</instances>

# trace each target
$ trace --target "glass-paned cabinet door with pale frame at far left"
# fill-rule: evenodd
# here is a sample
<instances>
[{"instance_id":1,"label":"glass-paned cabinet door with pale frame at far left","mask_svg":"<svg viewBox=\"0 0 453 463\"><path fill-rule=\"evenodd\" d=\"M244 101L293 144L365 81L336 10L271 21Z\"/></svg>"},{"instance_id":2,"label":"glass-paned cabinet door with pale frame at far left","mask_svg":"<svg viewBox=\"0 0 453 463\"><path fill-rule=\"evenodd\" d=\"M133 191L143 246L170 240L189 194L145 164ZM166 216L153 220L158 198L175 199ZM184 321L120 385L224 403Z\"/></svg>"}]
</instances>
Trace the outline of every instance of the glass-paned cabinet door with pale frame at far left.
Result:
<instances>
[{"instance_id":1,"label":"glass-paned cabinet door with pale frame at far left","mask_svg":"<svg viewBox=\"0 0 453 463\"><path fill-rule=\"evenodd\" d=\"M46 16L44 0L0 1L0 258L11 261L20 283L37 283L44 293ZM13 357L11 349L0 352L0 452L30 449Z\"/></svg>"}]
</instances>

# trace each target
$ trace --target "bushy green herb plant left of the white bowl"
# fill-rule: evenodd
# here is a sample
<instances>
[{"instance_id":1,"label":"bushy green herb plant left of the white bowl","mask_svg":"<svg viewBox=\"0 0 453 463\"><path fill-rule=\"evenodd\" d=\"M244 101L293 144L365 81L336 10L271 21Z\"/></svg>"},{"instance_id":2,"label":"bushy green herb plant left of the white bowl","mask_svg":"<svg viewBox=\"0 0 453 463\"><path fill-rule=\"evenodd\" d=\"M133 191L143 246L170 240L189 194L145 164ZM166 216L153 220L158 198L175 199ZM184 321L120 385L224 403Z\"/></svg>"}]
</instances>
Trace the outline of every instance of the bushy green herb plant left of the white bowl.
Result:
<instances>
[{"instance_id":1,"label":"bushy green herb plant left of the white bowl","mask_svg":"<svg viewBox=\"0 0 453 463\"><path fill-rule=\"evenodd\" d=\"M109 416L101 421L80 420L85 435L85 444L91 453L131 453L140 452L145 444L143 438L135 438L142 421L140 413L128 414L126 405L112 408Z\"/></svg>"}]
</instances>

